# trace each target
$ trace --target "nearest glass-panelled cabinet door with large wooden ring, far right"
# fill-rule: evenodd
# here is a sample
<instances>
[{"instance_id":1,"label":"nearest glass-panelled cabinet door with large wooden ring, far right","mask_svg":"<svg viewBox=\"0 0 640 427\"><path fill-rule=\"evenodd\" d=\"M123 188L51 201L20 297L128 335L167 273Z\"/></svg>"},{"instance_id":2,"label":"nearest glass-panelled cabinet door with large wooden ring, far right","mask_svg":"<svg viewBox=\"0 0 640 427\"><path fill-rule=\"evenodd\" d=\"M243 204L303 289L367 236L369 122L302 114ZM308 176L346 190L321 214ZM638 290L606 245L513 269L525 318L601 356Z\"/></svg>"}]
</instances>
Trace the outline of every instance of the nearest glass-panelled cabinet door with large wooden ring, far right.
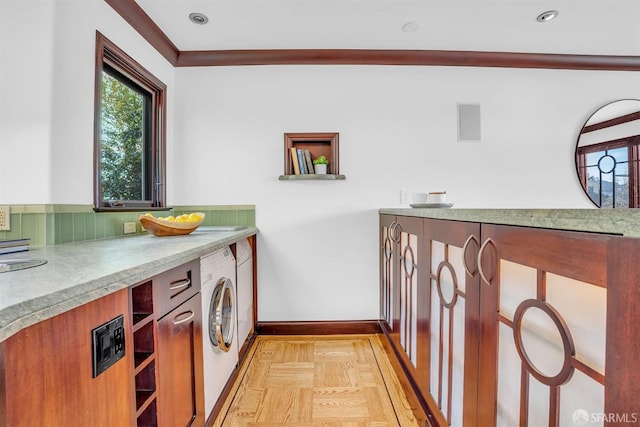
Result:
<instances>
[{"instance_id":1,"label":"nearest glass-panelled cabinet door with large wooden ring, far right","mask_svg":"<svg viewBox=\"0 0 640 427\"><path fill-rule=\"evenodd\" d=\"M605 425L609 240L482 225L479 426Z\"/></svg>"}]
</instances>

